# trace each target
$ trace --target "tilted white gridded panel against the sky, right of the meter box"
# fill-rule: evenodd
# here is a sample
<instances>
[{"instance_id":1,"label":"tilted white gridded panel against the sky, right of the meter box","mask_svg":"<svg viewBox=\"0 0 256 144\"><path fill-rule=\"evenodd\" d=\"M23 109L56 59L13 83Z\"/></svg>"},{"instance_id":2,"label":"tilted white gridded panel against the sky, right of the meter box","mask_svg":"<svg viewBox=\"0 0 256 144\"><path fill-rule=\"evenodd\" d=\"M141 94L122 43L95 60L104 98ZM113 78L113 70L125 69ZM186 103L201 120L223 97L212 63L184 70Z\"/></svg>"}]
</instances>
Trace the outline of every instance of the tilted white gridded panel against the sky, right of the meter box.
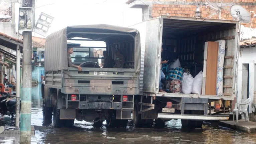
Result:
<instances>
[{"instance_id":1,"label":"tilted white gridded panel against the sky, right of the meter box","mask_svg":"<svg viewBox=\"0 0 256 144\"><path fill-rule=\"evenodd\" d=\"M41 13L40 14L40 17L39 19L37 20L36 24L35 24L35 27L33 29L33 31L35 33L38 33L42 36L46 36L50 26L51 26L51 23L53 21L54 17L52 16L49 16L45 13Z\"/></svg>"}]
</instances>

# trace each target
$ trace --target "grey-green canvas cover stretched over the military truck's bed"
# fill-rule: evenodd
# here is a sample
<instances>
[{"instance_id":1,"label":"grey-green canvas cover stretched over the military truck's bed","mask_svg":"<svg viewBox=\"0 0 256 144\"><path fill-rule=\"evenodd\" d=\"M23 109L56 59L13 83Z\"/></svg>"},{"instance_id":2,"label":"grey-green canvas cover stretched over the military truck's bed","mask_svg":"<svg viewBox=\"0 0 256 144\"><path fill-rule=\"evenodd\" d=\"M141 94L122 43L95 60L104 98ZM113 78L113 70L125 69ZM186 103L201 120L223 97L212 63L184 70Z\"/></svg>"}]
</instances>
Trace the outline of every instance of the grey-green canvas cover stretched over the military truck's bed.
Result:
<instances>
[{"instance_id":1,"label":"grey-green canvas cover stretched over the military truck's bed","mask_svg":"<svg viewBox=\"0 0 256 144\"><path fill-rule=\"evenodd\" d=\"M67 54L67 39L72 37L79 37L74 32L87 32L85 38L95 39L103 38L106 35L104 33L113 34L129 34L134 37L134 67L135 73L140 72L140 34L137 29L119 27L106 24L97 25L78 25L68 26L59 31L56 31L46 37L45 42L45 71L58 71L68 69L68 54ZM97 33L97 34L92 34ZM85 33L86 34L86 33ZM81 36L80 36L81 37ZM107 41L105 41L107 43Z\"/></svg>"}]
</instances>

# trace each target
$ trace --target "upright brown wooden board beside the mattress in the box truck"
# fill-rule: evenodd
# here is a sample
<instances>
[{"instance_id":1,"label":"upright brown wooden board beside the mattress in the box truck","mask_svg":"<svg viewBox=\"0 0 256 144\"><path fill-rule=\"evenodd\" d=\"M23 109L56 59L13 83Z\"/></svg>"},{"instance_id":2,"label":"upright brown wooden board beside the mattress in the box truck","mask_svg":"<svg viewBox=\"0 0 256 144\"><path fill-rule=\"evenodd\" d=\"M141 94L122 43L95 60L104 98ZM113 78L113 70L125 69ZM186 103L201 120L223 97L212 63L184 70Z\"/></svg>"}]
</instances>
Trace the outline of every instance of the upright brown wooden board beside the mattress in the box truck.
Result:
<instances>
[{"instance_id":1,"label":"upright brown wooden board beside the mattress in the box truck","mask_svg":"<svg viewBox=\"0 0 256 144\"><path fill-rule=\"evenodd\" d=\"M216 95L219 42L205 43L203 90L205 95Z\"/></svg>"}]
</instances>

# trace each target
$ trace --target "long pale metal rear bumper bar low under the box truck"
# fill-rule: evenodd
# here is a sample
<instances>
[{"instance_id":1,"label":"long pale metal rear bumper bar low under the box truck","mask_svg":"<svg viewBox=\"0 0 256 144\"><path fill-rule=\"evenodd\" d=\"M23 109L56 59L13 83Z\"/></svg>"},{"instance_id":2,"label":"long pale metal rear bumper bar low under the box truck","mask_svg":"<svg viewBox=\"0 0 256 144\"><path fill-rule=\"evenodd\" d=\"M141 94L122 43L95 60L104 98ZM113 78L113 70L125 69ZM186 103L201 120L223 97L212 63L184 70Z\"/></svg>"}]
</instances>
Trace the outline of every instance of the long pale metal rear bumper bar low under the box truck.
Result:
<instances>
[{"instance_id":1,"label":"long pale metal rear bumper bar low under the box truck","mask_svg":"<svg viewBox=\"0 0 256 144\"><path fill-rule=\"evenodd\" d=\"M165 114L158 113L158 119L183 119L183 120L212 120L225 121L229 120L229 115L180 115L180 114Z\"/></svg>"}]
</instances>

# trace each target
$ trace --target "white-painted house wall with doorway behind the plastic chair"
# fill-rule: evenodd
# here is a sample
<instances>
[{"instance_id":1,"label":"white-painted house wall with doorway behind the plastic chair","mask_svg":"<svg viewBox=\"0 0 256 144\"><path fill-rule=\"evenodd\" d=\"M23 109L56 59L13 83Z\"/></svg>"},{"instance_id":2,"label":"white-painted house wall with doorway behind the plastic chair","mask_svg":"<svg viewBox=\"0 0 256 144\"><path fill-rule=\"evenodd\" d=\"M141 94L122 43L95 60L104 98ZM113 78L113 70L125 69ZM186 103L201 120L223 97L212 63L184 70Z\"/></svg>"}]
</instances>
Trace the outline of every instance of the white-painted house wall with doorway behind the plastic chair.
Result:
<instances>
[{"instance_id":1,"label":"white-painted house wall with doorway behind the plastic chair","mask_svg":"<svg viewBox=\"0 0 256 144\"><path fill-rule=\"evenodd\" d=\"M249 94L247 92L247 88L249 88ZM245 101L247 99L247 96L249 96L249 98L252 99L251 104L249 105L250 120L256 121L256 47L242 48L239 52L237 75L237 101Z\"/></svg>"}]
</instances>

